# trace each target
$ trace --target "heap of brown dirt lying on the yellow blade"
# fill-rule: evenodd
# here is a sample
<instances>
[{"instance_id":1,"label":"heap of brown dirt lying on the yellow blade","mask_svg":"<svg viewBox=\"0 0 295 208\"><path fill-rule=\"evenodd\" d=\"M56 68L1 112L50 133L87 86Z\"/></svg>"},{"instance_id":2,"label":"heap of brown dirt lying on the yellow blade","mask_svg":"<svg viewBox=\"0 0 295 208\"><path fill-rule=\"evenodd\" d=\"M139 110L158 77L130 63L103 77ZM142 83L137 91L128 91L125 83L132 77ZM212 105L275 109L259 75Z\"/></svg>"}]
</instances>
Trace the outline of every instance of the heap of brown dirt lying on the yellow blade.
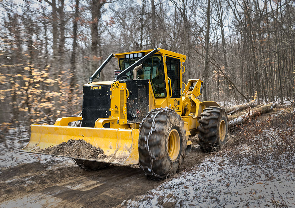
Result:
<instances>
[{"instance_id":1,"label":"heap of brown dirt lying on the yellow blade","mask_svg":"<svg viewBox=\"0 0 295 208\"><path fill-rule=\"evenodd\" d=\"M94 147L83 139L70 139L54 147L36 150L36 152L84 159L104 159L107 157L101 148Z\"/></svg>"}]
</instances>

